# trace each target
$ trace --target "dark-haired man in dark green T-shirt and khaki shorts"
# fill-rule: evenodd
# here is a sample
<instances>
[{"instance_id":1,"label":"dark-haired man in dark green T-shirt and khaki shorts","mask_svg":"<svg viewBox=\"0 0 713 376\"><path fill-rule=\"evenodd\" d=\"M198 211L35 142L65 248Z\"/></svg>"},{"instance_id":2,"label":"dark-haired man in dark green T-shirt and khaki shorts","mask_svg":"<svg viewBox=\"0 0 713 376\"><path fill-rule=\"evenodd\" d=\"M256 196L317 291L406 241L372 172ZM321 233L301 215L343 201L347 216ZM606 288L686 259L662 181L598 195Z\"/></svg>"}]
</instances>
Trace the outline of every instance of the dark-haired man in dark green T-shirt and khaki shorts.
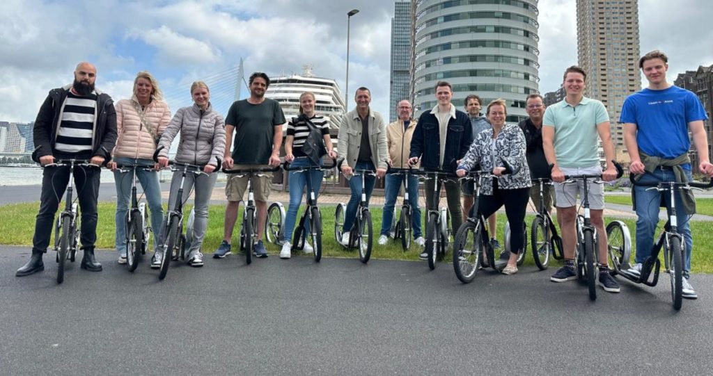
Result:
<instances>
[{"instance_id":1,"label":"dark-haired man in dark green T-shirt and khaki shorts","mask_svg":"<svg viewBox=\"0 0 713 376\"><path fill-rule=\"evenodd\" d=\"M250 98L237 100L230 106L225 117L225 156L223 164L227 169L247 169L275 167L279 164L279 147L282 145L282 125L286 122L282 108L276 100L265 98L270 78L265 73L250 75ZM235 133L235 138L233 134ZM235 145L230 152L230 145ZM270 197L272 174L261 174L252 179L257 207L257 244L253 248L258 258L267 257L262 244L267 217L267 199ZM213 258L223 258L230 254L230 239L237 220L237 209L247 190L248 177L228 175L225 185L227 207L225 208L225 229L223 240L213 254Z\"/></svg>"}]
</instances>

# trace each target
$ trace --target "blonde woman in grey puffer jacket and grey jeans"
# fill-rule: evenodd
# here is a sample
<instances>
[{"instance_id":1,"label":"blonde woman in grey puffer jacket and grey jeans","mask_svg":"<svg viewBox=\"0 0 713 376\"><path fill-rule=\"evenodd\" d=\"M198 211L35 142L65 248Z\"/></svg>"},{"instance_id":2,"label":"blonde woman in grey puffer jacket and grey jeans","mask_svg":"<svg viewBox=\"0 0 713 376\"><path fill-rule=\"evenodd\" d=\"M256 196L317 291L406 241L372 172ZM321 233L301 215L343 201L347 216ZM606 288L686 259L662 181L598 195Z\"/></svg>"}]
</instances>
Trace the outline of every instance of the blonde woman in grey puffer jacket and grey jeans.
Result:
<instances>
[{"instance_id":1,"label":"blonde woman in grey puffer jacket and grey jeans","mask_svg":"<svg viewBox=\"0 0 713 376\"><path fill-rule=\"evenodd\" d=\"M188 248L188 263L190 266L203 266L203 255L200 253L200 246L203 243L205 229L208 224L208 200L215 186L215 179L220 167L220 160L225 151L225 120L215 112L210 106L210 91L208 86L202 81L196 81L190 87L190 95L193 97L193 106L180 108L168 127L163 131L161 140L158 142L160 152L158 154L158 164L160 167L168 166L168 150L171 142L180 131L180 142L178 152L175 155L175 162L185 164L196 164L204 166L202 171L205 174L188 174L185 177L183 189L183 202L190 197L191 189L195 186L195 219L193 220L193 240L186 244ZM206 175L207 174L207 175ZM174 172L171 179L170 194L168 196L168 209L173 208L175 200L178 199L178 189L183 173ZM164 224L167 219L164 219ZM161 243L165 237L165 226L161 229ZM157 250L153 255L151 268L159 268L163 251Z\"/></svg>"}]
</instances>

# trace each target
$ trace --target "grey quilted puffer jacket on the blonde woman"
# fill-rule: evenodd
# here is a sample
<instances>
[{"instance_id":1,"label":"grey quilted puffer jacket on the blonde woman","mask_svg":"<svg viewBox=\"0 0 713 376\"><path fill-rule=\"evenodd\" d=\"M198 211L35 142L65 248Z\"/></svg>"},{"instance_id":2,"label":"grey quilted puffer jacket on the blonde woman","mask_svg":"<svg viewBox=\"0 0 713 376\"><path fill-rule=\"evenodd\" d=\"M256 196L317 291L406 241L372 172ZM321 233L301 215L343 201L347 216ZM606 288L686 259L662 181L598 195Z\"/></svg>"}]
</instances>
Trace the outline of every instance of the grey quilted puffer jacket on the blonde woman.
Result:
<instances>
[{"instance_id":1,"label":"grey quilted puffer jacket on the blonde woman","mask_svg":"<svg viewBox=\"0 0 713 376\"><path fill-rule=\"evenodd\" d=\"M188 164L210 164L217 167L225 151L225 120L208 103L207 110L198 105L180 108L163 131L158 147L160 157L168 157L171 142L180 132L175 161Z\"/></svg>"}]
</instances>

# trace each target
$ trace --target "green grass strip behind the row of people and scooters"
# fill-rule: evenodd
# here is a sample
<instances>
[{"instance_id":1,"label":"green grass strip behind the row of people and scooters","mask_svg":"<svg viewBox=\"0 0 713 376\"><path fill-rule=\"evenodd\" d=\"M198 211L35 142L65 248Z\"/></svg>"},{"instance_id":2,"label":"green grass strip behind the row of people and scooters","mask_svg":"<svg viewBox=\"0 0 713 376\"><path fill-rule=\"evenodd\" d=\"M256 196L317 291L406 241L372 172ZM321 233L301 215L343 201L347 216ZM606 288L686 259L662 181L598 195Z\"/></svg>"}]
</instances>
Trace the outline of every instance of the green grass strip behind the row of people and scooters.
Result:
<instances>
[{"instance_id":1,"label":"green grass strip behind the row of people and scooters","mask_svg":"<svg viewBox=\"0 0 713 376\"><path fill-rule=\"evenodd\" d=\"M615 196L607 196L607 202L611 197ZM626 198L628 199L628 197ZM713 203L709 202L709 204ZM0 244L30 246L38 207L39 204L37 203L10 204L0 207L0 218L3 219L0 221ZM101 249L113 249L115 226L114 210L116 206L113 203L100 202L98 208L99 221L97 226L96 245ZM186 212L188 213L188 211L190 211L190 207L186 207ZM386 246L379 246L379 244L376 243L376 239L379 238L379 229L381 229L381 208L372 208L371 213L374 221L374 250L372 251L372 258L396 260L419 259L418 256L420 249L413 242L411 244L411 249L407 252L404 252L401 249L400 240L389 241L389 244ZM225 207L220 205L212 205L210 207L207 234L202 246L202 250L205 254L212 254L222 240L222 224L224 214ZM242 214L238 215L238 218L240 218ZM607 218L607 221L610 220L612 220L612 218ZM635 243L635 219L621 220L627 224L631 232L632 242ZM334 239L334 207L322 208L322 221L324 227L322 238L323 255L327 257L359 258L355 250L345 251L341 245L337 244L336 239ZM529 233L529 224L532 221L532 216L528 216L525 221L528 223ZM502 239L505 222L506 216L504 214L498 214L498 239L501 239L501 244L503 244ZM713 232L709 231L710 226L710 223L702 221L694 221L691 224L694 234L694 244L696 244L692 260L694 273L713 273L713 251L711 251L711 247L709 246L713 244ZM237 244L239 244L239 234L240 221L238 221L236 229L233 232L232 244L235 245L233 253L235 253ZM528 243L529 241L528 234ZM272 255L277 255L279 253L279 246L275 244L268 244L267 249ZM448 259L450 259L449 256ZM534 262L532 261L529 253L525 259L525 265L534 266ZM448 265L447 267L450 268L451 266Z\"/></svg>"}]
</instances>

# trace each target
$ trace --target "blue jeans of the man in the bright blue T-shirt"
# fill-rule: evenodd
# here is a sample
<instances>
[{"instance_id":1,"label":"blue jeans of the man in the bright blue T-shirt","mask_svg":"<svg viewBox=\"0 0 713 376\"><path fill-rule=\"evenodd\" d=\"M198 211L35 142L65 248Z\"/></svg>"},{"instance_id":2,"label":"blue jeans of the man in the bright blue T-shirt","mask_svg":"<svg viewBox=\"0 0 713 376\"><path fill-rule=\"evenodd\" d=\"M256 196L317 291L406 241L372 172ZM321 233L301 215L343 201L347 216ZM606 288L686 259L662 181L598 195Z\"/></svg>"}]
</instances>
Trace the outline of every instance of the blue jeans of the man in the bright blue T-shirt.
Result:
<instances>
[{"instance_id":1,"label":"blue jeans of the man in the bright blue T-shirt","mask_svg":"<svg viewBox=\"0 0 713 376\"><path fill-rule=\"evenodd\" d=\"M686 172L689 180L691 180L691 172ZM673 171L670 169L662 170L660 167L652 173L646 173L639 179L639 182L671 182L674 181ZM659 208L661 203L661 195L666 202L667 211L670 210L671 195L669 192L657 192L655 190L647 191L648 187L634 186L636 193L636 215L639 217L636 221L636 258L635 262L643 263L646 258L651 256L651 248L654 244L654 233L656 226L659 223ZM689 225L690 216L686 214L681 200L681 195L677 191L674 198L676 199L676 216L678 219L678 232L683 235L686 246L686 262L683 265L684 275L688 275L691 271L691 251L693 249L693 238L691 237L691 226Z\"/></svg>"}]
</instances>

